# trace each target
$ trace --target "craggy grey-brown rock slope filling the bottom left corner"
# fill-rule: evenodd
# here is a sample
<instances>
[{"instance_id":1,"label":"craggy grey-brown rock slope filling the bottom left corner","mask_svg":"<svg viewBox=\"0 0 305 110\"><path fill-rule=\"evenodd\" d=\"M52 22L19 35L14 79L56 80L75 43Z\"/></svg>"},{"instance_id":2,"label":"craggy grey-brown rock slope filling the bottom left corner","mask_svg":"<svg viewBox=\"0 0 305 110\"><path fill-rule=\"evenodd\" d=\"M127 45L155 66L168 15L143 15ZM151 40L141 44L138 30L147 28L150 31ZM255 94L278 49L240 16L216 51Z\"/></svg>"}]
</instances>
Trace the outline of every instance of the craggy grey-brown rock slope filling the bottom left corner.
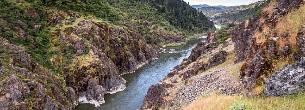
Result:
<instances>
[{"instance_id":1,"label":"craggy grey-brown rock slope filling the bottom left corner","mask_svg":"<svg viewBox=\"0 0 305 110\"><path fill-rule=\"evenodd\" d=\"M41 68L24 47L12 45L2 37L0 45L5 54L10 54L8 51L14 53L8 57L10 61L5 60L0 67L1 109L28 110L29 106L38 110L73 108L70 96L63 95L67 94L60 86L64 82Z\"/></svg>"}]
</instances>

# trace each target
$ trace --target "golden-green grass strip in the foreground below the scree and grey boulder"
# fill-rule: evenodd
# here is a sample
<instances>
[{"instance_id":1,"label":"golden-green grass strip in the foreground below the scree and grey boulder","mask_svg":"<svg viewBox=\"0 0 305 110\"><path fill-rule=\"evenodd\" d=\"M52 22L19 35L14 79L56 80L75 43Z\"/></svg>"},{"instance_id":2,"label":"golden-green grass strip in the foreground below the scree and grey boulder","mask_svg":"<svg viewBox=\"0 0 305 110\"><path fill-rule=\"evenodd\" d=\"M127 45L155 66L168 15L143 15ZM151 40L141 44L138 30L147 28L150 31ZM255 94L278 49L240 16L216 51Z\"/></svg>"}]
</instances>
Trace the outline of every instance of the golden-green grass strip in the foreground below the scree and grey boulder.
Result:
<instances>
[{"instance_id":1,"label":"golden-green grass strip in the foreground below the scree and grey boulder","mask_svg":"<svg viewBox=\"0 0 305 110\"><path fill-rule=\"evenodd\" d=\"M228 110L234 104L245 104L246 110L305 110L305 95L243 97L213 94L193 101L183 110Z\"/></svg>"}]
</instances>

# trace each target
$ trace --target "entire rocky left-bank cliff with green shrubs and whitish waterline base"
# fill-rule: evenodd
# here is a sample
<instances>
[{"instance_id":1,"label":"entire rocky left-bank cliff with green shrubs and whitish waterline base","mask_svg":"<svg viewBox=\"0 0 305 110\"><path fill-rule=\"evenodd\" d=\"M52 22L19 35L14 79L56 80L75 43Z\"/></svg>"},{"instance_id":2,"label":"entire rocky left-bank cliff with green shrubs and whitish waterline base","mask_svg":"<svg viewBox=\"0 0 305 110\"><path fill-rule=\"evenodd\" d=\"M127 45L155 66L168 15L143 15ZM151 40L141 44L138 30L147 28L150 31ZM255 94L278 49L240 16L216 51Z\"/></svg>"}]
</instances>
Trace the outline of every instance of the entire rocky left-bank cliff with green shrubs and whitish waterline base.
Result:
<instances>
[{"instance_id":1,"label":"entire rocky left-bank cliff with green shrubs and whitish waterline base","mask_svg":"<svg viewBox=\"0 0 305 110\"><path fill-rule=\"evenodd\" d=\"M126 88L121 75L157 58L128 24L69 10L39 12L24 1L4 3L21 11L12 8L15 18L0 16L0 109L99 106L105 94Z\"/></svg>"}]
</instances>

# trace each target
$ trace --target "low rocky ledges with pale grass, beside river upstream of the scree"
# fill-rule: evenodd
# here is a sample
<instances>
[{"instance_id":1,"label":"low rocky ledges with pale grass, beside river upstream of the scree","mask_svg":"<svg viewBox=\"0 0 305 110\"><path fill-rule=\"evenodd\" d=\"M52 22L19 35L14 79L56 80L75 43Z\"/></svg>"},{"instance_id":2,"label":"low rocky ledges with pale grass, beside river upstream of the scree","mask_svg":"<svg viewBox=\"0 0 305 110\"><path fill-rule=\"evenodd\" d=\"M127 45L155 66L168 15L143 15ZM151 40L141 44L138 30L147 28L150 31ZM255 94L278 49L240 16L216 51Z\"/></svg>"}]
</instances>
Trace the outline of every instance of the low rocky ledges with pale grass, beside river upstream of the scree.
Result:
<instances>
[{"instance_id":1,"label":"low rocky ledges with pale grass, beside river upstream of the scree","mask_svg":"<svg viewBox=\"0 0 305 110\"><path fill-rule=\"evenodd\" d=\"M182 80L185 80L198 74L199 71L223 63L227 53L226 51L221 50L221 48L219 48L219 50L213 50L217 45L215 42L217 40L214 39L213 32L207 36L207 40L209 40L209 42L199 42L196 47L192 49L192 53L188 59L185 59L180 65L174 67L174 69L167 74L167 77L178 75L180 77L182 76Z\"/></svg>"}]
</instances>

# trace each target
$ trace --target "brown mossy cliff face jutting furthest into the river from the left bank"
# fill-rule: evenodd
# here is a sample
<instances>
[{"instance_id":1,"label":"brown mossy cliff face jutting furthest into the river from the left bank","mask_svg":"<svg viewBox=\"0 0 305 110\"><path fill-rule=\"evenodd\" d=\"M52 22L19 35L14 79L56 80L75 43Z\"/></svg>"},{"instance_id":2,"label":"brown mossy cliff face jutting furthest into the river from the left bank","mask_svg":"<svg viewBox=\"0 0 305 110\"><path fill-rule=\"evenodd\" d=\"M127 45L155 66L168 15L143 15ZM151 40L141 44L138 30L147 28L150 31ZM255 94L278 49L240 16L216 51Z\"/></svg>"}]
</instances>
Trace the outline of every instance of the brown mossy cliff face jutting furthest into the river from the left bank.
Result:
<instances>
[{"instance_id":1,"label":"brown mossy cliff face jutting furthest into the river from the left bank","mask_svg":"<svg viewBox=\"0 0 305 110\"><path fill-rule=\"evenodd\" d=\"M109 57L121 74L132 73L143 64L157 58L152 46L145 43L139 32L129 25L128 29L112 26L105 22L81 20L79 26L58 32L60 40L69 41L76 47L77 56L83 55L84 41L94 40L92 45ZM68 37L68 38L67 38Z\"/></svg>"}]
</instances>

